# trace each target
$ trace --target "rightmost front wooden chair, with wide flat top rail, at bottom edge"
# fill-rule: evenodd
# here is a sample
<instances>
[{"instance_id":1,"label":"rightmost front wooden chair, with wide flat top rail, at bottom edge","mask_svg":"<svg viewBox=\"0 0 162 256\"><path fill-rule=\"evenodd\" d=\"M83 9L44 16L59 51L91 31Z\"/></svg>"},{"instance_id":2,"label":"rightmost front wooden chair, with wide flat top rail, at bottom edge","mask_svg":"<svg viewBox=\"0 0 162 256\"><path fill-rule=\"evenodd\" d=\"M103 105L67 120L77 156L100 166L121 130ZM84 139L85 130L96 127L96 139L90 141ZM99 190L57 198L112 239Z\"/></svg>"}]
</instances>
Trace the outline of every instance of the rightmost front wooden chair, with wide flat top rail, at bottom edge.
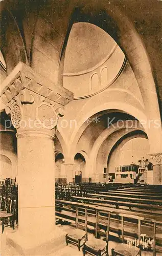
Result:
<instances>
[{"instance_id":1,"label":"rightmost front wooden chair, with wide flat top rail, at bottom edge","mask_svg":"<svg viewBox=\"0 0 162 256\"><path fill-rule=\"evenodd\" d=\"M111 249L111 254L112 256L120 255L120 256L141 256L141 221L143 221L145 218L143 217L138 217L138 216L130 216L126 214L120 214L122 219L122 244L117 245L114 249ZM129 218L129 219L135 219L138 220L138 247L132 246L128 243L124 244L125 239L124 239L124 218ZM134 238L133 238L134 239ZM132 239L132 241L133 241ZM136 244L136 243L135 243Z\"/></svg>"}]
</instances>

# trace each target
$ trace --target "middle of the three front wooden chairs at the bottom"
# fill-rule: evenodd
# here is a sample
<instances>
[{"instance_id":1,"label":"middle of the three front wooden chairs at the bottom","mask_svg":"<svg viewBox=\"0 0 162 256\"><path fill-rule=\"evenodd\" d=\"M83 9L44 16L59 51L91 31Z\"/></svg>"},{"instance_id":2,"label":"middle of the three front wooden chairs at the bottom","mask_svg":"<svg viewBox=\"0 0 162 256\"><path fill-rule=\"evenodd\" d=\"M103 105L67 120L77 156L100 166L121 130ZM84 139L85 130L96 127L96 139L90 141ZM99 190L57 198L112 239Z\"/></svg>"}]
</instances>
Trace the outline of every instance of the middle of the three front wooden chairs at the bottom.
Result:
<instances>
[{"instance_id":1,"label":"middle of the three front wooden chairs at the bottom","mask_svg":"<svg viewBox=\"0 0 162 256\"><path fill-rule=\"evenodd\" d=\"M95 228L95 237L94 239L88 240L84 243L83 255L86 253L90 255L108 255L108 236L109 236L109 226L110 226L110 212L108 212L107 219L107 228L106 228L106 241L99 238L99 217L100 211L96 210L96 228ZM102 216L103 218L103 216Z\"/></svg>"}]
</instances>

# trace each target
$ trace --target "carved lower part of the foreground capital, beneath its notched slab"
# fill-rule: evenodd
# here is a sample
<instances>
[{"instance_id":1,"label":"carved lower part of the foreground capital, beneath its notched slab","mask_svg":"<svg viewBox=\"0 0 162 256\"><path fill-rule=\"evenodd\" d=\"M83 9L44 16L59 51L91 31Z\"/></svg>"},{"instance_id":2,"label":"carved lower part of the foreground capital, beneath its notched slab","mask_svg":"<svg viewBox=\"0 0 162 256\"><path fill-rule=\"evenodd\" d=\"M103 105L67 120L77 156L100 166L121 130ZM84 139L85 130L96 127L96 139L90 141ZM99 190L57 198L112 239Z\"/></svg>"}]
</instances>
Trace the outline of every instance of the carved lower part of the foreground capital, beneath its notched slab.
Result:
<instances>
[{"instance_id":1,"label":"carved lower part of the foreground capital, beneath its notched slab","mask_svg":"<svg viewBox=\"0 0 162 256\"><path fill-rule=\"evenodd\" d=\"M28 108L31 104L32 108ZM64 115L64 108L60 104L52 104L50 100L46 102L44 97L25 88L7 104L6 113L11 115L16 129L52 130L57 126L59 116Z\"/></svg>"}]
</instances>

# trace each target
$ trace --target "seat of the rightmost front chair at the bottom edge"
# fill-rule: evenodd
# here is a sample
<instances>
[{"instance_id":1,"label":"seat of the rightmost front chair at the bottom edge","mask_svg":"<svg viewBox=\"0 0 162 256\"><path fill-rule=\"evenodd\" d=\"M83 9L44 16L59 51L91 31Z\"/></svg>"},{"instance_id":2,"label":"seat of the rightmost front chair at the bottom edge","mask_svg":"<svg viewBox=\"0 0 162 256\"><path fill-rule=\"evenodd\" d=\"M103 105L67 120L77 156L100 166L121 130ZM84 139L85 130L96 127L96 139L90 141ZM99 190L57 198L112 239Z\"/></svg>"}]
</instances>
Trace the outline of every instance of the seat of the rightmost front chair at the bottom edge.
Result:
<instances>
[{"instance_id":1,"label":"seat of the rightmost front chair at the bottom edge","mask_svg":"<svg viewBox=\"0 0 162 256\"><path fill-rule=\"evenodd\" d=\"M140 249L135 246L129 246L127 244L119 244L115 247L116 253L121 253L124 256L136 256L140 252Z\"/></svg>"}]
</instances>

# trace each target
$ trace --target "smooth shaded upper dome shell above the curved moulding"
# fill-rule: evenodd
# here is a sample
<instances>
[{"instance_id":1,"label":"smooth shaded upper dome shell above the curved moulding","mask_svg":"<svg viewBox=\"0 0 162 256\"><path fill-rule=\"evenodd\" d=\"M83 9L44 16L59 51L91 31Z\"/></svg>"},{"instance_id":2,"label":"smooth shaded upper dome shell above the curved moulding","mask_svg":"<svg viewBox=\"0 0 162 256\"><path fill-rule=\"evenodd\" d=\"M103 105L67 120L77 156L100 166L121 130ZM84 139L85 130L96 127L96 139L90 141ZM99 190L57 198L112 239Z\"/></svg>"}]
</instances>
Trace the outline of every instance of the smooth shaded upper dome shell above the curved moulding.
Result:
<instances>
[{"instance_id":1,"label":"smooth shaded upper dome shell above the curved moulding","mask_svg":"<svg viewBox=\"0 0 162 256\"><path fill-rule=\"evenodd\" d=\"M116 42L101 28L90 23L75 23L68 38L64 73L95 69L110 55Z\"/></svg>"}]
</instances>

